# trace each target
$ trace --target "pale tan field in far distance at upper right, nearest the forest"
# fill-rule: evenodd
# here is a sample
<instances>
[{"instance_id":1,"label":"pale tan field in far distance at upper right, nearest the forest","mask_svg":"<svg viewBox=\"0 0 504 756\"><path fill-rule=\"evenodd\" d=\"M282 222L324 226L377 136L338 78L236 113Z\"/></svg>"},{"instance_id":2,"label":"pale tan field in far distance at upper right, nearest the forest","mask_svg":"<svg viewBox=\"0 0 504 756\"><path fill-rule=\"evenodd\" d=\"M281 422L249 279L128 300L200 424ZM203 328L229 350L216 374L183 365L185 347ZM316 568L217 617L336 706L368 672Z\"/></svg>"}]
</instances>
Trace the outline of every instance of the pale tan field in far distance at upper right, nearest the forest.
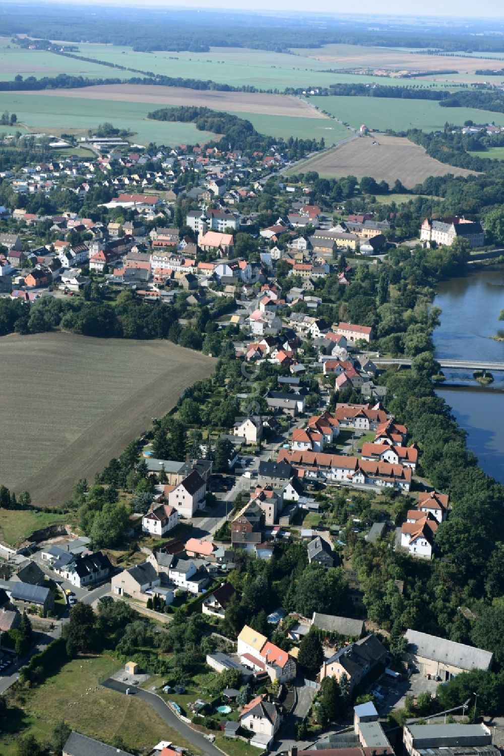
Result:
<instances>
[{"instance_id":1,"label":"pale tan field in far distance at upper right, nearest the forest","mask_svg":"<svg viewBox=\"0 0 504 756\"><path fill-rule=\"evenodd\" d=\"M322 48L292 48L292 52L303 59L313 58L318 60L328 68L373 68L404 73L451 69L456 70L463 81L474 79L476 70L489 67L488 61L485 63L484 58L463 57L462 55L425 55L419 51L400 48L323 45ZM449 76L449 74L438 74L435 75L435 78L443 83L445 79L449 79ZM420 77L419 82L424 79L425 77ZM399 83L401 83L401 79L399 79ZM406 82L403 80L402 83ZM415 83L417 83L416 80Z\"/></svg>"}]
</instances>

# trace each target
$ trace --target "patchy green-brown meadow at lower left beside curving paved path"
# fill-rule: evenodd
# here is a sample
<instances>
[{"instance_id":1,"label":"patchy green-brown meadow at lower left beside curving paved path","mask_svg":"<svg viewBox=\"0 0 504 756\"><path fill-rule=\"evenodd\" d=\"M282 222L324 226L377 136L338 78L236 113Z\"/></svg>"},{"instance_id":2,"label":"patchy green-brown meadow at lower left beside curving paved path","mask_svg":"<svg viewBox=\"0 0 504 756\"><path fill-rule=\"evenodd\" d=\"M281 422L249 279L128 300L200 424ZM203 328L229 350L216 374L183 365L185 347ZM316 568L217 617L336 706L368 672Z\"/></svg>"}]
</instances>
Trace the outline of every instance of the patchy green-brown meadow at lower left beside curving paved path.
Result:
<instances>
[{"instance_id":1,"label":"patchy green-brown meadow at lower left beside curving paved path","mask_svg":"<svg viewBox=\"0 0 504 756\"><path fill-rule=\"evenodd\" d=\"M113 665L113 659L105 655L68 662L27 694L29 722L37 718L52 725L64 718L73 730L105 742L120 735L129 749L148 751L160 740L172 740L194 751L194 746L165 724L147 702L98 684L98 678Z\"/></svg>"}]
</instances>

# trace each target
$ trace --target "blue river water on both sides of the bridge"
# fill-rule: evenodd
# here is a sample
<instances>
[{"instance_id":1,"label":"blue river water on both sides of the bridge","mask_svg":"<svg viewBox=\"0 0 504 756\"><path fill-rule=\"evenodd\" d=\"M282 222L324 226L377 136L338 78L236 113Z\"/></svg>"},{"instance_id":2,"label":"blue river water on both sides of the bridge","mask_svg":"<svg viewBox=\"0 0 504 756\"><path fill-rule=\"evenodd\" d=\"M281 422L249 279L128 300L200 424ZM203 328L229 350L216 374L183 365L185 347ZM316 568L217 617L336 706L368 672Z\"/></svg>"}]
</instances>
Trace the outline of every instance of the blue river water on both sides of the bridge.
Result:
<instances>
[{"instance_id":1,"label":"blue river water on both sides of the bridge","mask_svg":"<svg viewBox=\"0 0 504 756\"><path fill-rule=\"evenodd\" d=\"M504 268L485 269L442 283L434 304L441 307L441 326L434 330L435 355L471 361L504 362ZM438 394L453 409L468 433L468 448L475 452L488 475L504 483L504 373L494 373L490 388L480 386L472 370L444 370L447 377Z\"/></svg>"}]
</instances>

